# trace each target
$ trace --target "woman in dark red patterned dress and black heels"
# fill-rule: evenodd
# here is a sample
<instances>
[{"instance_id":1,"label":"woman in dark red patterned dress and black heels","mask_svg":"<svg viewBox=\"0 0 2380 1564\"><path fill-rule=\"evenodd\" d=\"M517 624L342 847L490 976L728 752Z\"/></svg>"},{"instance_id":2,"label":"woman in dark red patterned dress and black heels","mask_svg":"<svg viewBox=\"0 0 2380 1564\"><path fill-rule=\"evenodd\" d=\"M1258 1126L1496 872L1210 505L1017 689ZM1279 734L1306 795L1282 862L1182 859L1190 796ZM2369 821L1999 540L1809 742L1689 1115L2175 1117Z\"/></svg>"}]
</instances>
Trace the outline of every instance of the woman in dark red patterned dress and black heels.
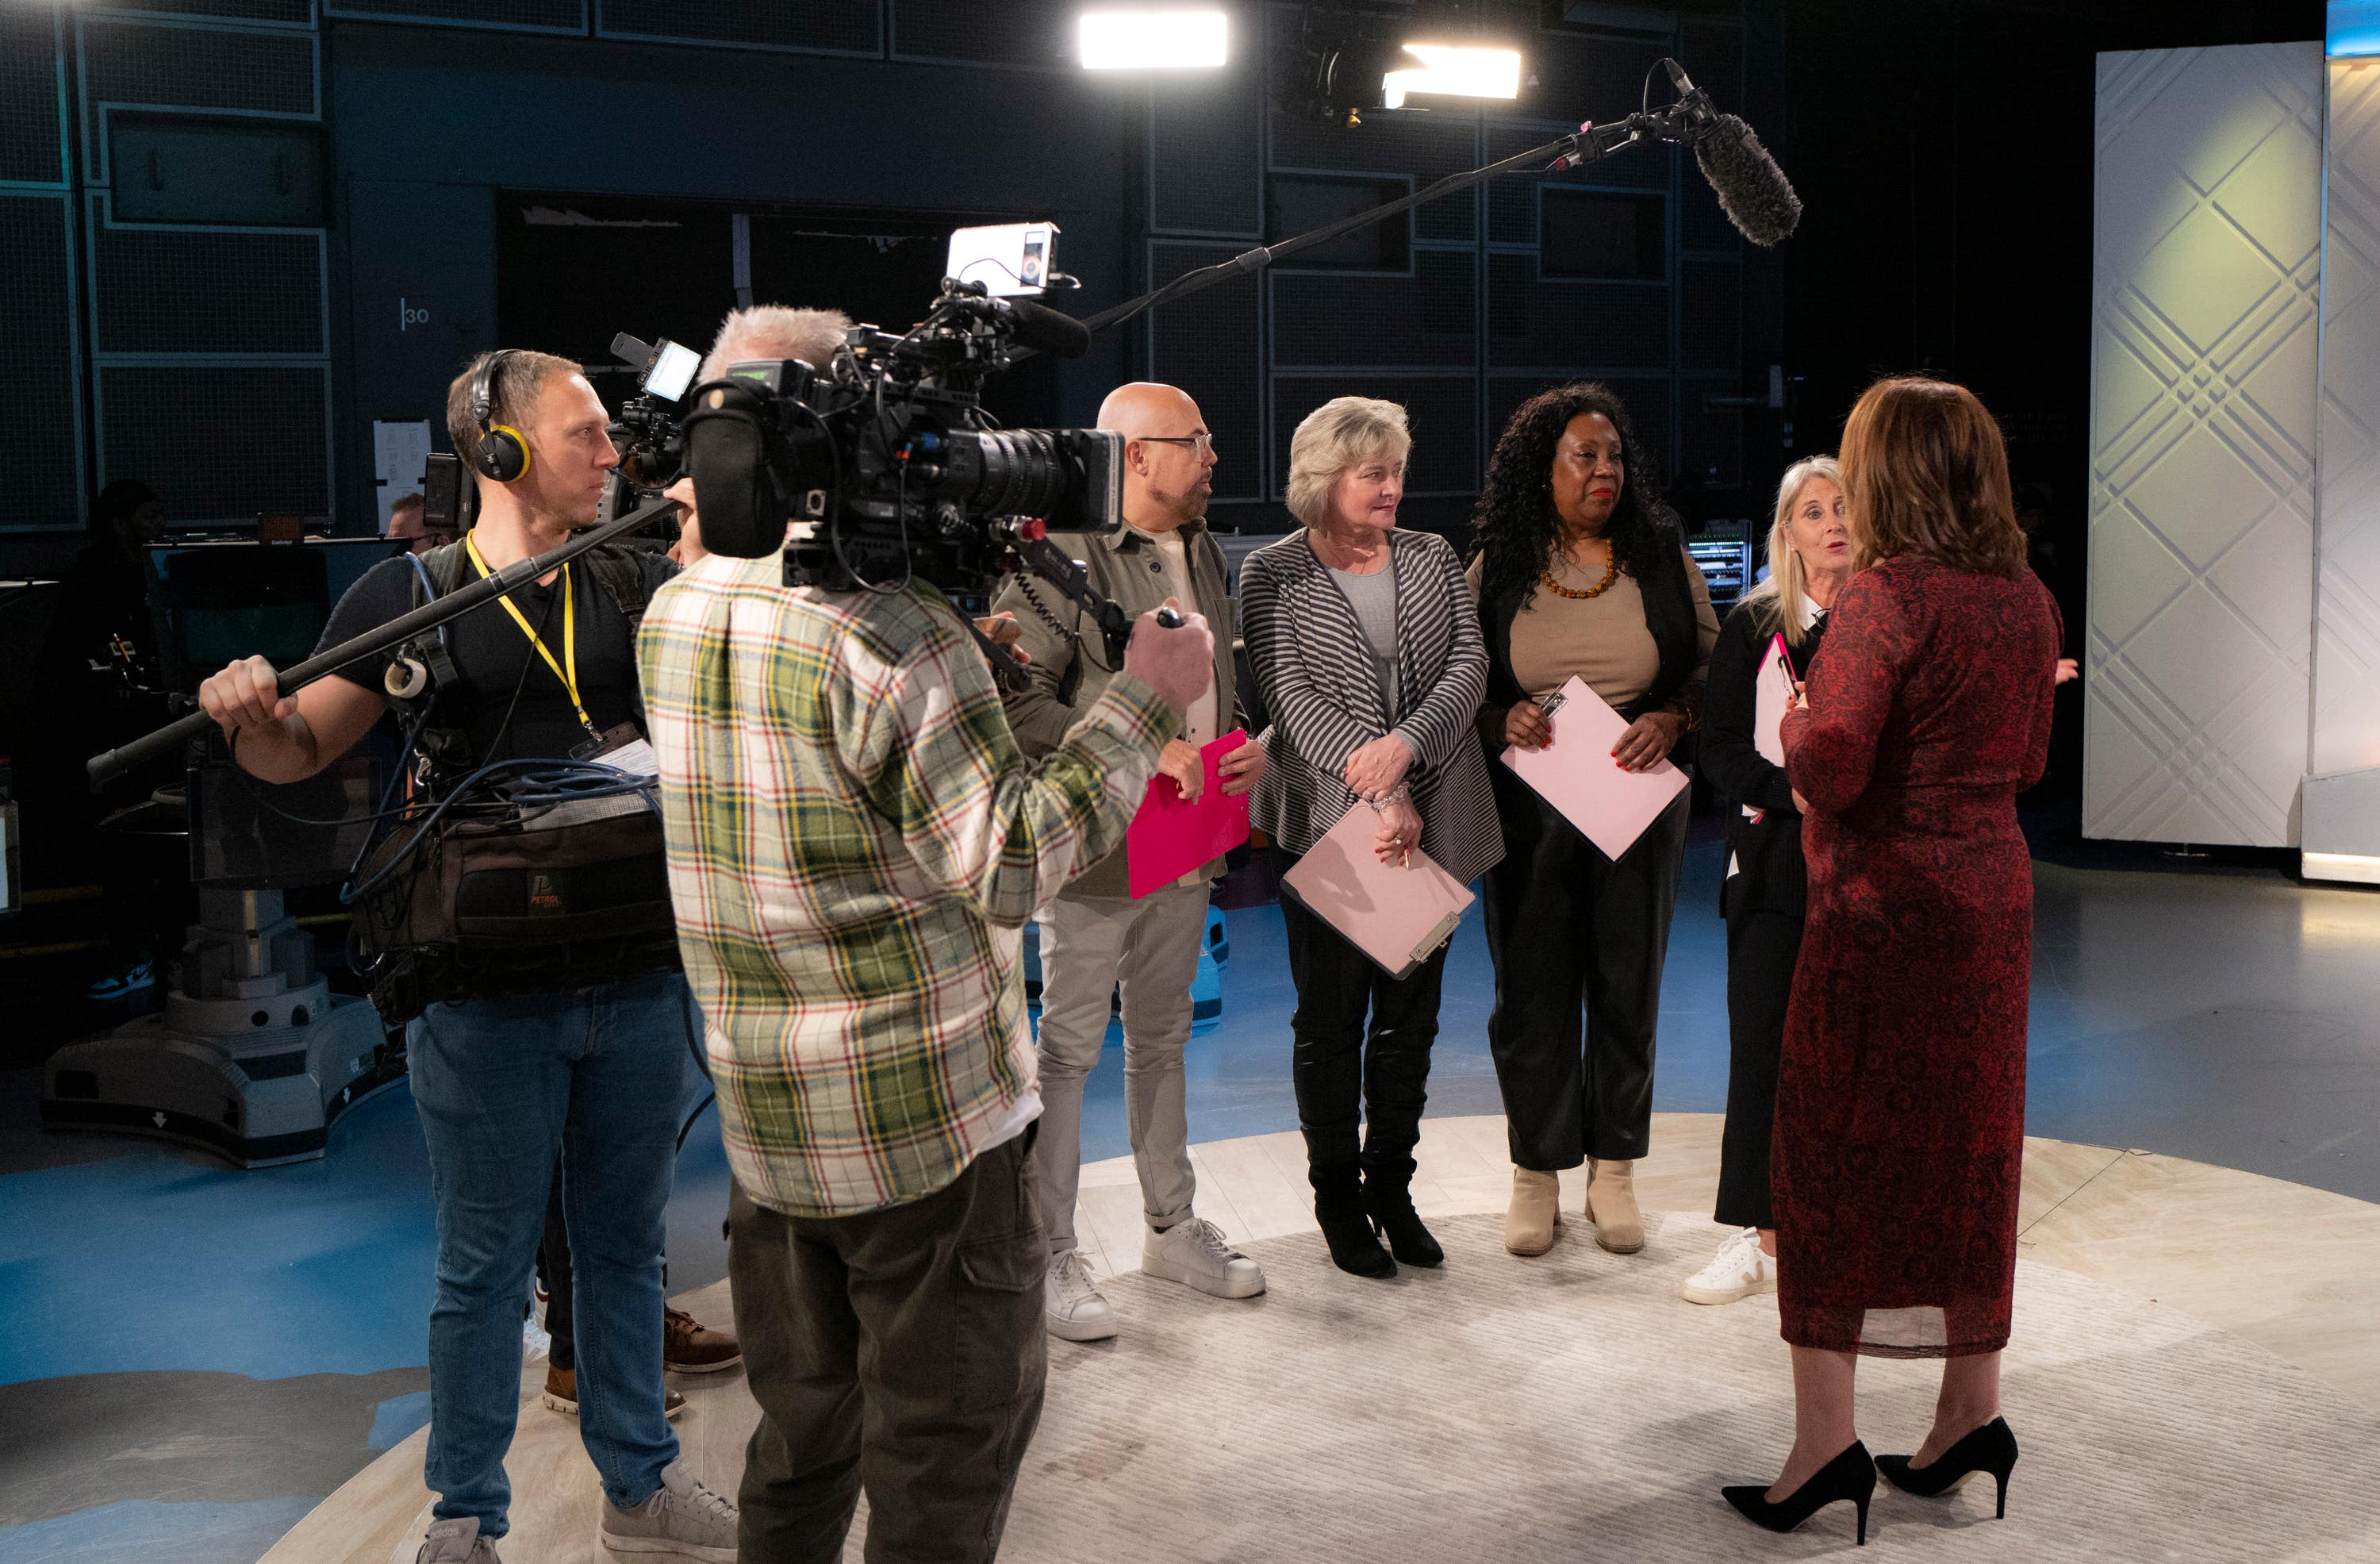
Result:
<instances>
[{"instance_id":1,"label":"woman in dark red patterned dress and black heels","mask_svg":"<svg viewBox=\"0 0 2380 1564\"><path fill-rule=\"evenodd\" d=\"M1842 436L1854 569L1828 614L1785 774L1809 800L1809 928L1775 1105L1778 1314L1795 1445L1787 1531L1875 1469L1911 1493L1999 1478L2016 1281L2033 864L2016 793L2049 757L2059 612L2025 569L1999 426L1961 386L1871 386ZM1859 1355L1940 1357L1925 1443L1868 1459Z\"/></svg>"}]
</instances>

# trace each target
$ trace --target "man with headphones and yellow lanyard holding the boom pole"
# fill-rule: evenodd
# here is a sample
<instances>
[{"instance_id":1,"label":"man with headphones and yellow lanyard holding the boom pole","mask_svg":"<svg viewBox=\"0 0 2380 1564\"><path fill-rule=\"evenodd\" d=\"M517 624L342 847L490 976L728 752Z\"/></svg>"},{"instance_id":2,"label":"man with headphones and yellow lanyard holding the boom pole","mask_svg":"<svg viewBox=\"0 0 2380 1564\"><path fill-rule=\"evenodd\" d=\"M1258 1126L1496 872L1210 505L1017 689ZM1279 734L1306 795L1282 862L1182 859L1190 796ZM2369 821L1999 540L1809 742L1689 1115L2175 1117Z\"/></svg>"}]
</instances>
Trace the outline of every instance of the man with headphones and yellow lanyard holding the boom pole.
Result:
<instances>
[{"instance_id":1,"label":"man with headphones and yellow lanyard holding the boom pole","mask_svg":"<svg viewBox=\"0 0 2380 1564\"><path fill-rule=\"evenodd\" d=\"M324 645L588 526L619 464L605 428L602 400L569 359L516 350L474 359L447 390L447 433L476 474L478 524L445 550L376 564L340 598ZM643 721L635 621L674 571L659 555L607 545L450 621L436 652L424 652L443 676L414 719L426 762L414 781L447 797L445 788L493 762L616 757L633 767ZM412 705L405 674L421 669L409 650L290 697L276 697L274 669L250 657L200 686L200 707L224 726L240 769L298 781L359 743L390 695ZM536 902L536 886L526 895ZM724 1564L735 1557L735 1509L678 1459L662 1414L662 1238L688 1105L693 997L671 940L640 947L638 959L564 962L564 971L552 993L431 988L414 997L433 1000L409 1026L409 1052L438 1214L424 1478L440 1497L419 1559L497 1559L521 1309L559 1150L581 1305L581 1438L602 1476L602 1543Z\"/></svg>"}]
</instances>

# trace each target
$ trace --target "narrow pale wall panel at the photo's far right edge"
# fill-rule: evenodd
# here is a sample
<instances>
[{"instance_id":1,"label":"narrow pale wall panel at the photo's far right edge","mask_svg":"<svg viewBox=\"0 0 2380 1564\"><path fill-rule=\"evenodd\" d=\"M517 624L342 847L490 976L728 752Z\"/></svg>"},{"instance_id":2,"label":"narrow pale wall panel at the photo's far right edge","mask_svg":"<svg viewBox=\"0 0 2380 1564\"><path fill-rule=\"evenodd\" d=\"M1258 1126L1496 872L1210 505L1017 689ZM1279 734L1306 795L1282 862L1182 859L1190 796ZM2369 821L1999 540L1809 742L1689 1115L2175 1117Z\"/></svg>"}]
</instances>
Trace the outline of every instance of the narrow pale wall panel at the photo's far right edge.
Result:
<instances>
[{"instance_id":1,"label":"narrow pale wall panel at the photo's far right edge","mask_svg":"<svg viewBox=\"0 0 2380 1564\"><path fill-rule=\"evenodd\" d=\"M2330 64L2313 774L2380 767L2380 60Z\"/></svg>"}]
</instances>

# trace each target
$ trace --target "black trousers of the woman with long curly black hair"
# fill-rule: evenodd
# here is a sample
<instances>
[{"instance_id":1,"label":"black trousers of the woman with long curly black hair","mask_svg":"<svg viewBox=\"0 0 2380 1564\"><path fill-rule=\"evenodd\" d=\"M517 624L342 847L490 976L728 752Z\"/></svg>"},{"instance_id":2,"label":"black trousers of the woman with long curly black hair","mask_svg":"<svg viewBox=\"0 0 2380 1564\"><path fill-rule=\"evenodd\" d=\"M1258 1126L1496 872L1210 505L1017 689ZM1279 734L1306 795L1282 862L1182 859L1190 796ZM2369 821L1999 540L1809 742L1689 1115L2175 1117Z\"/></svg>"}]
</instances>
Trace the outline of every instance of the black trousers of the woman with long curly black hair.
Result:
<instances>
[{"instance_id":1,"label":"black trousers of the woman with long curly black hair","mask_svg":"<svg viewBox=\"0 0 2380 1564\"><path fill-rule=\"evenodd\" d=\"M1488 1050L1514 1166L1633 1162L1652 1147L1652 1045L1690 795L1614 862L1509 769L1490 776L1504 862L1483 897Z\"/></svg>"}]
</instances>

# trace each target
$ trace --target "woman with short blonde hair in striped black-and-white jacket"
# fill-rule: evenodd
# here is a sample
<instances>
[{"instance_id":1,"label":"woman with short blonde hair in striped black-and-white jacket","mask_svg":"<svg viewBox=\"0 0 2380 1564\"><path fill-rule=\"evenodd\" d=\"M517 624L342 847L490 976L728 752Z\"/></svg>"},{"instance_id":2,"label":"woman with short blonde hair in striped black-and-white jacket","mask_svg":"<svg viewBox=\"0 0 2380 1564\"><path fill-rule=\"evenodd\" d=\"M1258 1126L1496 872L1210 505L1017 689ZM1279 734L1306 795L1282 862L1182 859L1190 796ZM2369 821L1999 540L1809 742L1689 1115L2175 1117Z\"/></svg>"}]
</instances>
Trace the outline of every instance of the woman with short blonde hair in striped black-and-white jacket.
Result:
<instances>
[{"instance_id":1,"label":"woman with short blonde hair in striped black-and-white jacket","mask_svg":"<svg viewBox=\"0 0 2380 1564\"><path fill-rule=\"evenodd\" d=\"M1326 402L1290 440L1304 531L1240 567L1240 624L1273 724L1254 821L1295 857L1368 805L1385 850L1421 847L1471 881L1504 855L1473 738L1488 652L1454 550L1395 526L1407 450L1404 409L1371 398ZM1330 1259L1357 1276L1435 1266L1445 1252L1414 1214L1411 1178L1447 952L1390 978L1288 897L1280 919L1297 1121Z\"/></svg>"}]
</instances>

